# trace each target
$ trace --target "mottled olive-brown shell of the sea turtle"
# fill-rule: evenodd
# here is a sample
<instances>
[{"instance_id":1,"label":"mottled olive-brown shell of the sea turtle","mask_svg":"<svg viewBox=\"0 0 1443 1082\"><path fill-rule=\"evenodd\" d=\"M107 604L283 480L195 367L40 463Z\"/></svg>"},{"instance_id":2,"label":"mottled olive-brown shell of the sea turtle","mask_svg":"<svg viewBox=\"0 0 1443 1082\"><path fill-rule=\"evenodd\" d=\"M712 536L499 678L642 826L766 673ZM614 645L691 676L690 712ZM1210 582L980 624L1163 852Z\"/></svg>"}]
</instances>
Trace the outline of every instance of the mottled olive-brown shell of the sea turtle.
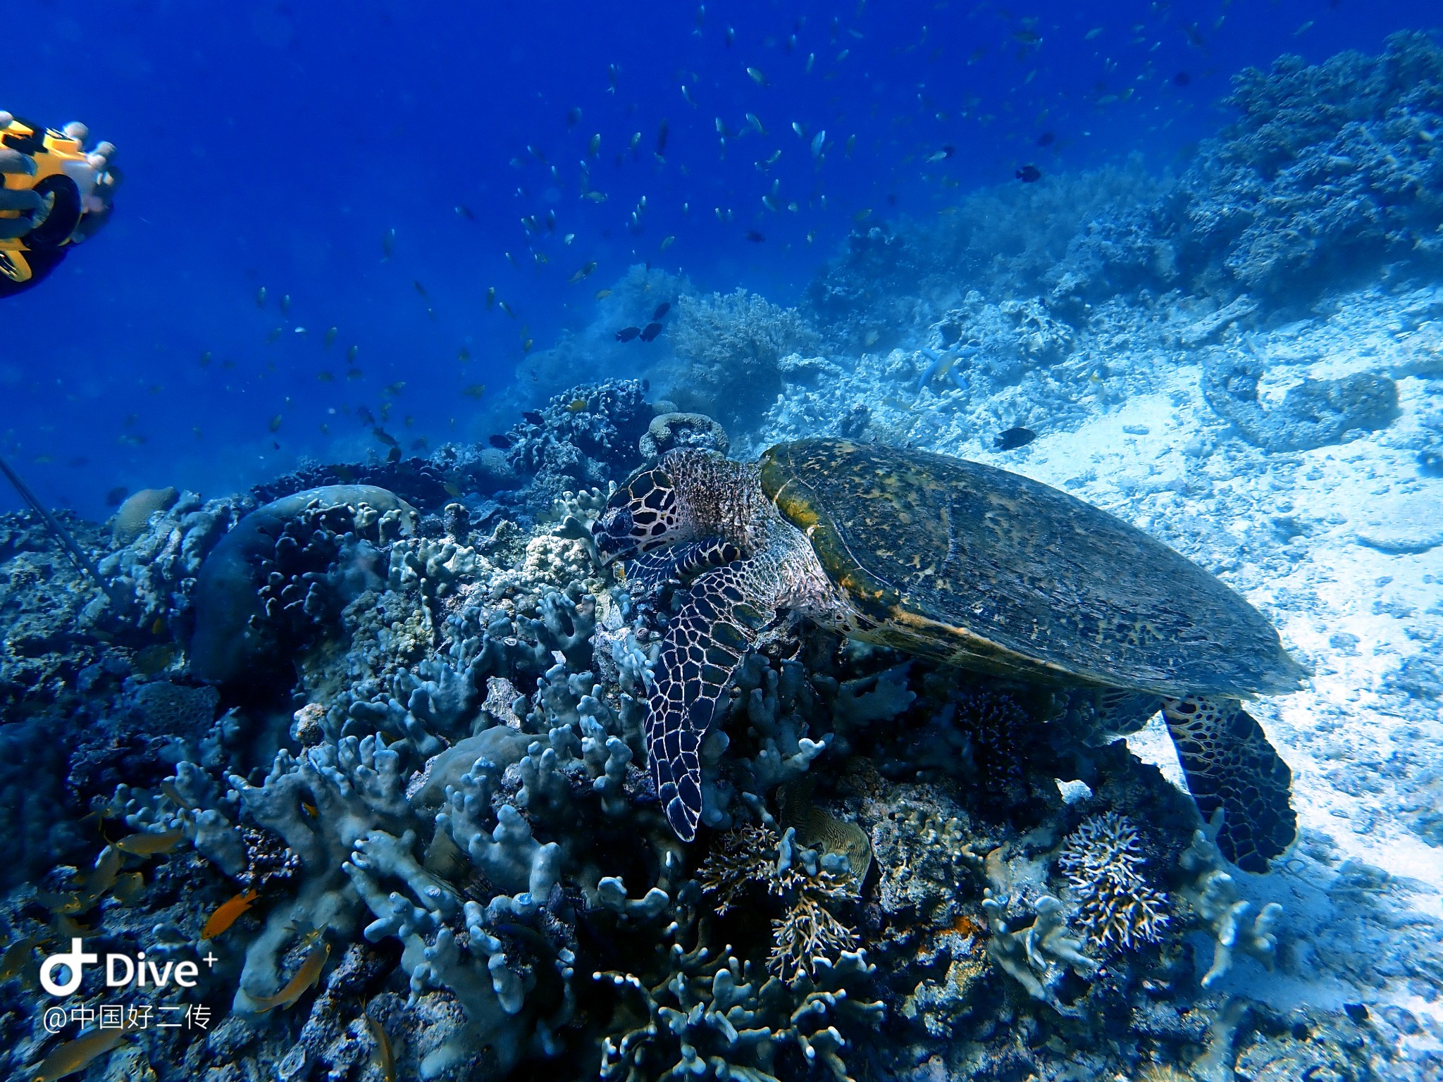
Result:
<instances>
[{"instance_id":1,"label":"mottled olive-brown shell of the sea turtle","mask_svg":"<svg viewBox=\"0 0 1443 1082\"><path fill-rule=\"evenodd\" d=\"M1003 675L1250 698L1304 675L1267 619L1118 518L965 459L848 440L760 460L861 636Z\"/></svg>"}]
</instances>

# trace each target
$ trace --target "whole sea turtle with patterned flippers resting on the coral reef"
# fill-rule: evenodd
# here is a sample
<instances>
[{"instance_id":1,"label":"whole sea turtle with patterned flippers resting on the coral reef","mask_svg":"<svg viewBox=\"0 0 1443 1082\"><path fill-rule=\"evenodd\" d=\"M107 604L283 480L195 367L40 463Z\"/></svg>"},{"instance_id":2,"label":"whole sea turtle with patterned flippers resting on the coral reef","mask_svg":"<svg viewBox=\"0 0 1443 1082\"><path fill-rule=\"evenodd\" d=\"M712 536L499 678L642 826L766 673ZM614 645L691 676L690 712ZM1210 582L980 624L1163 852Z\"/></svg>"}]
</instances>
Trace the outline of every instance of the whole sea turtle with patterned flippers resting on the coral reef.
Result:
<instances>
[{"instance_id":1,"label":"whole sea turtle with patterned flippers resting on the coral reef","mask_svg":"<svg viewBox=\"0 0 1443 1082\"><path fill-rule=\"evenodd\" d=\"M678 449L632 473L592 527L603 563L685 584L655 664L646 744L672 830L696 837L698 749L727 681L781 610L948 665L1095 688L1159 708L1218 845L1266 871L1293 840L1291 772L1240 700L1304 669L1267 619L1098 508L1007 470L848 440L759 462Z\"/></svg>"}]
</instances>

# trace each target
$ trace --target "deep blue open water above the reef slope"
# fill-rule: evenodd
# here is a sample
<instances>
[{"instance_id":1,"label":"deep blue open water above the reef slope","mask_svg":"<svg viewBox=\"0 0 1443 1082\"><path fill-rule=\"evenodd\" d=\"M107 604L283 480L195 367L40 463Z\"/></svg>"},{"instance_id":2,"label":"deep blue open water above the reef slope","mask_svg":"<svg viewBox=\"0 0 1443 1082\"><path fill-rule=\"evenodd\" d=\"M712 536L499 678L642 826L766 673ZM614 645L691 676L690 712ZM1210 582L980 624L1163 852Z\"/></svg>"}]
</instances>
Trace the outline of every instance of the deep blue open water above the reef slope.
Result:
<instances>
[{"instance_id":1,"label":"deep blue open water above the reef slope","mask_svg":"<svg viewBox=\"0 0 1443 1082\"><path fill-rule=\"evenodd\" d=\"M1411 0L701 7L36 6L6 107L82 120L126 182L104 242L7 306L52 330L0 358L4 453L94 516L120 486L214 492L356 457L374 441L345 410L375 413L397 381L407 444L483 439L509 424L498 403L560 390L528 385L522 343L586 325L635 263L791 303L863 211L926 222L1029 163L1176 169L1244 66L1436 22ZM580 198L583 162L605 202ZM486 309L492 287L515 319Z\"/></svg>"}]
</instances>

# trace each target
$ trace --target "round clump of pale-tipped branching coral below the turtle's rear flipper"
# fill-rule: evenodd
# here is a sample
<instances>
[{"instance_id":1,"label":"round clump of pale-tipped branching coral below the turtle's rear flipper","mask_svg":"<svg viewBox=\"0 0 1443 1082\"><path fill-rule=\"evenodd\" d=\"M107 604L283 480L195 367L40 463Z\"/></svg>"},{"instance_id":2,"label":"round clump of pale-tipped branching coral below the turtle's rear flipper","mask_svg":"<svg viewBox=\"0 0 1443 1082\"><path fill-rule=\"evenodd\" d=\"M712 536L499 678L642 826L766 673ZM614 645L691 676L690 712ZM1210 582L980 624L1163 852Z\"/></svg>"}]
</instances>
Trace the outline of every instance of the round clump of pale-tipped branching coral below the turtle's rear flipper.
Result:
<instances>
[{"instance_id":1,"label":"round clump of pale-tipped branching coral below the turtle's rear flipper","mask_svg":"<svg viewBox=\"0 0 1443 1082\"><path fill-rule=\"evenodd\" d=\"M1081 910L1078 923L1104 952L1163 938L1167 896L1147 886L1144 863L1137 828L1111 811L1084 819L1058 854L1058 868Z\"/></svg>"}]
</instances>

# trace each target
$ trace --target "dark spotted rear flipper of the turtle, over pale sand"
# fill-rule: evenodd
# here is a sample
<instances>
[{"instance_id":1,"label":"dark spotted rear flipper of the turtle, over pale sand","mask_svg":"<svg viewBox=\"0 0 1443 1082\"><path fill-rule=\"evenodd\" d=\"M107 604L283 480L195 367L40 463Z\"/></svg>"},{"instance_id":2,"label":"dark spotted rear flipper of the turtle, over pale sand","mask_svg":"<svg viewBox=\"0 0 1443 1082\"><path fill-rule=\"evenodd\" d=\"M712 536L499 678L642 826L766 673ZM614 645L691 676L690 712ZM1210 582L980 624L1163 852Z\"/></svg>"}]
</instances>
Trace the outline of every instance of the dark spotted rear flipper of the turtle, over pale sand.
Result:
<instances>
[{"instance_id":1,"label":"dark spotted rear flipper of the turtle, over pale sand","mask_svg":"<svg viewBox=\"0 0 1443 1082\"><path fill-rule=\"evenodd\" d=\"M1287 763L1237 700L1165 698L1163 717L1202 818L1222 808L1222 856L1244 871L1267 871L1297 837Z\"/></svg>"}]
</instances>

